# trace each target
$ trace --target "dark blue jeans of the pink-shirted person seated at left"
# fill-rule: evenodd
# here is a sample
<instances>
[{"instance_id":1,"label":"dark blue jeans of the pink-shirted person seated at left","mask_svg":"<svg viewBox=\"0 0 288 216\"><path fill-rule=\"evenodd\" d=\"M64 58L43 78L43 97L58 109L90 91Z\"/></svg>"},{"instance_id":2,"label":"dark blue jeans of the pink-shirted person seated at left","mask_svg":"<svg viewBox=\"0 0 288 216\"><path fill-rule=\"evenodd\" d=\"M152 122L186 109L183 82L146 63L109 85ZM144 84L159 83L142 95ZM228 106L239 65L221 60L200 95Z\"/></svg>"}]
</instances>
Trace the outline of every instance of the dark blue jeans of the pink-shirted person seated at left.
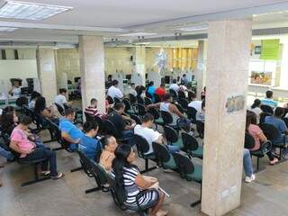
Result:
<instances>
[{"instance_id":1,"label":"dark blue jeans of the pink-shirted person seated at left","mask_svg":"<svg viewBox=\"0 0 288 216\"><path fill-rule=\"evenodd\" d=\"M56 153L55 151L50 150L49 148L36 148L31 154L26 157L19 158L19 161L31 161L36 159L46 158L47 160L41 164L41 170L46 171L50 170L51 176L57 176L57 162L56 162Z\"/></svg>"}]
</instances>

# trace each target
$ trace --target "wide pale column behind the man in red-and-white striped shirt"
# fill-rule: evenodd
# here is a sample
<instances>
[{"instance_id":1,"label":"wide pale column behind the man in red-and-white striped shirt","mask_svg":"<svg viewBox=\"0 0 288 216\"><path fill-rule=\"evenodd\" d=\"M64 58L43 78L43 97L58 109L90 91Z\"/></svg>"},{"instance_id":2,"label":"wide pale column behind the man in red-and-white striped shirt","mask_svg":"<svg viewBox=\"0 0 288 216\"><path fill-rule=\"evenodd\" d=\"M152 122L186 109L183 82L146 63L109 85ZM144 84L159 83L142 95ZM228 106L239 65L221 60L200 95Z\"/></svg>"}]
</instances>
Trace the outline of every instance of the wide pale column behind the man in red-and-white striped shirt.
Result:
<instances>
[{"instance_id":1,"label":"wide pale column behind the man in red-and-white striped shirt","mask_svg":"<svg viewBox=\"0 0 288 216\"><path fill-rule=\"evenodd\" d=\"M83 109L96 98L98 110L105 112L103 37L79 36L79 56Z\"/></svg>"}]
</instances>

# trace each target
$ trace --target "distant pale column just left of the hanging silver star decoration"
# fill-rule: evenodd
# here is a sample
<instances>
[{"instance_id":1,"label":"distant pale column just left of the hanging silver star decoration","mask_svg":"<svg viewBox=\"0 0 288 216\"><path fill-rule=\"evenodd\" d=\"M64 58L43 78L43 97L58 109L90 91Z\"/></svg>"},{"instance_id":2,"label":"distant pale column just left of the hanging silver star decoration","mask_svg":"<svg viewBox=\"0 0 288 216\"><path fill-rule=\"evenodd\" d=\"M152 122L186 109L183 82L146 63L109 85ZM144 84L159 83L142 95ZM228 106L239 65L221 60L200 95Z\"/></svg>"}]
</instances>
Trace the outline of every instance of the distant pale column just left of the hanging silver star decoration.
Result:
<instances>
[{"instance_id":1,"label":"distant pale column just left of the hanging silver star decoration","mask_svg":"<svg viewBox=\"0 0 288 216\"><path fill-rule=\"evenodd\" d=\"M136 47L136 54L135 54L135 71L137 74L142 76L142 83L140 85L146 84L146 49L145 47L138 46Z\"/></svg>"}]
</instances>

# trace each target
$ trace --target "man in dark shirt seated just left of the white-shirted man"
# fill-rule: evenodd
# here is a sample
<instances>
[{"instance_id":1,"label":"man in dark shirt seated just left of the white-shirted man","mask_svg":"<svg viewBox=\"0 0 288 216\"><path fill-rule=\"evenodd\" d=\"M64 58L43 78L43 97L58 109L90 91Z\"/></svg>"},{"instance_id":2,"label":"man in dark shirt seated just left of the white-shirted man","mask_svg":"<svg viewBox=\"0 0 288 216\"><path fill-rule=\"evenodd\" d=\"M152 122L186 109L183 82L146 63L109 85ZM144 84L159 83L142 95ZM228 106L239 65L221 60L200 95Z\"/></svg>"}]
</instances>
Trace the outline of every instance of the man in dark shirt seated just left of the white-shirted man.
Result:
<instances>
[{"instance_id":1,"label":"man in dark shirt seated just left of the white-shirted man","mask_svg":"<svg viewBox=\"0 0 288 216\"><path fill-rule=\"evenodd\" d=\"M113 109L114 111L110 113L110 120L115 125L119 134L121 134L121 137L123 139L128 139L129 144L132 147L134 145L133 128L135 127L135 121L132 121L129 117L124 115L124 103L115 103ZM128 124L126 122L128 122Z\"/></svg>"}]
</instances>

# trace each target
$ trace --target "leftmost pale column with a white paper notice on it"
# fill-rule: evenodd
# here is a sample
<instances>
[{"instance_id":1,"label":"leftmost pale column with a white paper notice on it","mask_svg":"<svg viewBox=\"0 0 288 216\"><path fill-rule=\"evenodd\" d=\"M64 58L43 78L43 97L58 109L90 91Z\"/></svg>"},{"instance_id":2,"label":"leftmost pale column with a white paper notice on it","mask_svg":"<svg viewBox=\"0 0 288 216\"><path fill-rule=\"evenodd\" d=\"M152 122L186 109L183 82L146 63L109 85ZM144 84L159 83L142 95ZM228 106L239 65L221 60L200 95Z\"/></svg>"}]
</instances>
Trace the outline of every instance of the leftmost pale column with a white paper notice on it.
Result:
<instances>
[{"instance_id":1,"label":"leftmost pale column with a white paper notice on it","mask_svg":"<svg viewBox=\"0 0 288 216\"><path fill-rule=\"evenodd\" d=\"M57 95L54 49L40 48L36 53L41 94L46 98L47 105L51 105Z\"/></svg>"}]
</instances>

